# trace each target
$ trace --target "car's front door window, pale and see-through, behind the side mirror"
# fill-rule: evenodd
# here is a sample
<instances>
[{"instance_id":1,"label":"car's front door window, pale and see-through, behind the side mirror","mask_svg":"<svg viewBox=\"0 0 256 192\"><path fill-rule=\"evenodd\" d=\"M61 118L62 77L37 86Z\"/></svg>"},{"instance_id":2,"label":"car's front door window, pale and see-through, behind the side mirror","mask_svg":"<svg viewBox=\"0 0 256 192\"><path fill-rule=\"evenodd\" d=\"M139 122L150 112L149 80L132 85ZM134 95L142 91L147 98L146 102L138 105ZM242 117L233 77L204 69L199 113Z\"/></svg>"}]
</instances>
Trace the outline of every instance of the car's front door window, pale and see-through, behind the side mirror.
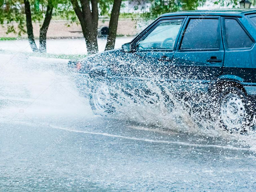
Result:
<instances>
[{"instance_id":1,"label":"car's front door window, pale and see-through, behind the side mirror","mask_svg":"<svg viewBox=\"0 0 256 192\"><path fill-rule=\"evenodd\" d=\"M137 43L138 50L173 50L183 19L160 22Z\"/></svg>"}]
</instances>

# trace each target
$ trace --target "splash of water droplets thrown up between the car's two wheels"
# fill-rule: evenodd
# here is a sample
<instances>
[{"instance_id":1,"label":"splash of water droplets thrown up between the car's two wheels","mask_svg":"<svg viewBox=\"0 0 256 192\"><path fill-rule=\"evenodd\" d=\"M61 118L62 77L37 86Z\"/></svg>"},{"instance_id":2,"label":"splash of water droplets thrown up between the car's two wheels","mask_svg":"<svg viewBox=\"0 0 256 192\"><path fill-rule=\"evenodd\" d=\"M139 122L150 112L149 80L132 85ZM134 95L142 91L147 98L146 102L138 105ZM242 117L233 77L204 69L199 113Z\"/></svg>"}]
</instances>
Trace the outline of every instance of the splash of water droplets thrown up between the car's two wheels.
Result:
<instances>
[{"instance_id":1,"label":"splash of water droplets thrown up between the car's two wheels","mask_svg":"<svg viewBox=\"0 0 256 192\"><path fill-rule=\"evenodd\" d=\"M115 113L110 116L175 132L236 141L242 146L256 149L256 134L251 127L246 128L246 134L237 134L220 126L218 112L214 110L217 107L214 102L216 98L208 94L193 97L196 90L179 96L176 85L160 87L157 80L145 80L144 88L138 90L129 89L132 87L129 83L132 84L101 83L108 87L112 95L109 102L115 108ZM92 84L96 84L95 80L92 80Z\"/></svg>"}]
</instances>

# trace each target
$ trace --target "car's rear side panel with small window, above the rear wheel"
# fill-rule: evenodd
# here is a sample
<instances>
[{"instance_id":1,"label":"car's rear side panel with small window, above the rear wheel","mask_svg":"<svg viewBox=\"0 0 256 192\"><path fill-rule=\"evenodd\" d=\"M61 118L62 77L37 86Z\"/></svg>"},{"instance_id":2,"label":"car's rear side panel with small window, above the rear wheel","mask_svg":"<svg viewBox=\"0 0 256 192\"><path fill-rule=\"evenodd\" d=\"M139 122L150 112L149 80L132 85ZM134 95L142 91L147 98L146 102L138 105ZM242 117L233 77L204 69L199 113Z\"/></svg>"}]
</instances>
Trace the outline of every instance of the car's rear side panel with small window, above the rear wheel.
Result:
<instances>
[{"instance_id":1,"label":"car's rear side panel with small window, above the rear wheel","mask_svg":"<svg viewBox=\"0 0 256 192\"><path fill-rule=\"evenodd\" d=\"M254 39L238 18L224 17L223 28L226 50L223 78L253 82L255 80Z\"/></svg>"}]
</instances>

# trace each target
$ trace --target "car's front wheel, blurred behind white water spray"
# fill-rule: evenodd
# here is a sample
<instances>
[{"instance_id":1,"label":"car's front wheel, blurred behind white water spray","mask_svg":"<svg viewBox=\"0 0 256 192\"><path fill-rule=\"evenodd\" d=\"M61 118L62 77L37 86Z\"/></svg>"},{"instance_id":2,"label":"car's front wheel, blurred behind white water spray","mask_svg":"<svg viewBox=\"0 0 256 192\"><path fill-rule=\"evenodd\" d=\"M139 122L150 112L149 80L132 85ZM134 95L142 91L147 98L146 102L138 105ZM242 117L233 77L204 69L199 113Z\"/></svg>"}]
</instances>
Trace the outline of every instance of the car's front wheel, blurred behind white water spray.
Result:
<instances>
[{"instance_id":1,"label":"car's front wheel, blurred behind white water spray","mask_svg":"<svg viewBox=\"0 0 256 192\"><path fill-rule=\"evenodd\" d=\"M106 84L99 83L93 86L89 100L94 114L107 116L115 113L113 98Z\"/></svg>"}]
</instances>

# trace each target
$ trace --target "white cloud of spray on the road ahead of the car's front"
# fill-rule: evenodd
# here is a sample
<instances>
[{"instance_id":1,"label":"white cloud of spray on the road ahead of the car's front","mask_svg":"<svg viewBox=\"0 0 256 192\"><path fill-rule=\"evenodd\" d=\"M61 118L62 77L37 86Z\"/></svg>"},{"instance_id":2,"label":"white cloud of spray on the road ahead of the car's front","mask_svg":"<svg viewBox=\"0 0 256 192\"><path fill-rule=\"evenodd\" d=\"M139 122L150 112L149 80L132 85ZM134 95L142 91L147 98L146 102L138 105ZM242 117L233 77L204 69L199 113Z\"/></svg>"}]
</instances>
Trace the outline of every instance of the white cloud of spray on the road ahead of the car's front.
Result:
<instances>
[{"instance_id":1,"label":"white cloud of spray on the road ahead of the car's front","mask_svg":"<svg viewBox=\"0 0 256 192\"><path fill-rule=\"evenodd\" d=\"M67 60L24 54L1 58L1 119L92 116L88 100L77 92Z\"/></svg>"}]
</instances>

